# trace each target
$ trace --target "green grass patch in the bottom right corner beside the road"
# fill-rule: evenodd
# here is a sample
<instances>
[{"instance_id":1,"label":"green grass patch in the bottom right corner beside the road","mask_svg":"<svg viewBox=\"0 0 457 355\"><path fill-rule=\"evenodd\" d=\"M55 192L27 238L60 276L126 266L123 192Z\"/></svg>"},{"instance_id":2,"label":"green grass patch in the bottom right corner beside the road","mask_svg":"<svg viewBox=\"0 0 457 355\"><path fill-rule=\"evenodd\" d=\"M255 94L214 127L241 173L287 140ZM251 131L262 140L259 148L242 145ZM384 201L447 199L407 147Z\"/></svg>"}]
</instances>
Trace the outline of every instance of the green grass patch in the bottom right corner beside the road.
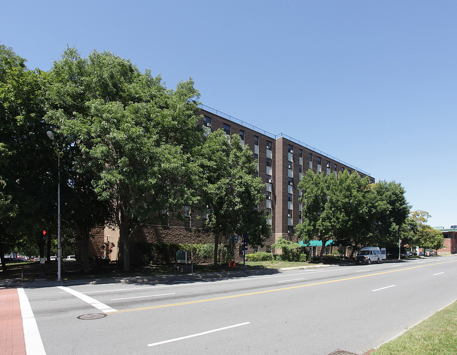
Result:
<instances>
[{"instance_id":1,"label":"green grass patch in the bottom right corner beside the road","mask_svg":"<svg viewBox=\"0 0 457 355\"><path fill-rule=\"evenodd\" d=\"M382 345L374 354L456 355L457 301Z\"/></svg>"}]
</instances>

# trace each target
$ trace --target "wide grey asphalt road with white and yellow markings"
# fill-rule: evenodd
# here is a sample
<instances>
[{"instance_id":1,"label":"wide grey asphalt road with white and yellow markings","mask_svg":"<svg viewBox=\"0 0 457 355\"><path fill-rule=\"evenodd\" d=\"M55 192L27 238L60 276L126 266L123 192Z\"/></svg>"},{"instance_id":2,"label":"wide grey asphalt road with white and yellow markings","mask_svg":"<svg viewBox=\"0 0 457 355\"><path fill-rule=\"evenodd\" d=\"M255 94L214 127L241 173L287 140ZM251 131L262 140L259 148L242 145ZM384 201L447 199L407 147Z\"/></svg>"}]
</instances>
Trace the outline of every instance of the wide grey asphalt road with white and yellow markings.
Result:
<instances>
[{"instance_id":1,"label":"wide grey asphalt road with white and yellow markings","mask_svg":"<svg viewBox=\"0 0 457 355\"><path fill-rule=\"evenodd\" d=\"M363 354L456 300L457 257L210 279L25 292L47 355Z\"/></svg>"}]
</instances>

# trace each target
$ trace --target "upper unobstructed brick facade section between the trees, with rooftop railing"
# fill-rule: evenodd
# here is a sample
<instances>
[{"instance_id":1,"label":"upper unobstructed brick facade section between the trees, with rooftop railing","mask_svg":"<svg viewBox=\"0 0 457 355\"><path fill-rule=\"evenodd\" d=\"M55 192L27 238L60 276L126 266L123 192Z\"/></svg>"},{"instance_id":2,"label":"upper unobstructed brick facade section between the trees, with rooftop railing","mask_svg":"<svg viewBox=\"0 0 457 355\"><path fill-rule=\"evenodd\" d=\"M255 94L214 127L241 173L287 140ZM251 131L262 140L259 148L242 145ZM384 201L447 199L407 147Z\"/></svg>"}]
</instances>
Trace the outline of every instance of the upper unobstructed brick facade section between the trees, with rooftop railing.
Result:
<instances>
[{"instance_id":1,"label":"upper unobstructed brick facade section between the trees, with rooftop railing","mask_svg":"<svg viewBox=\"0 0 457 355\"><path fill-rule=\"evenodd\" d=\"M272 238L263 249L254 250L271 251L271 245L279 238L294 238L294 226L302 221L297 185L309 169L337 175L348 170L375 182L369 173L282 133L273 135L208 106L202 106L201 113L207 130L223 129L227 135L240 135L258 162L259 177L266 184L265 201L259 208L271 216Z\"/></svg>"}]
</instances>

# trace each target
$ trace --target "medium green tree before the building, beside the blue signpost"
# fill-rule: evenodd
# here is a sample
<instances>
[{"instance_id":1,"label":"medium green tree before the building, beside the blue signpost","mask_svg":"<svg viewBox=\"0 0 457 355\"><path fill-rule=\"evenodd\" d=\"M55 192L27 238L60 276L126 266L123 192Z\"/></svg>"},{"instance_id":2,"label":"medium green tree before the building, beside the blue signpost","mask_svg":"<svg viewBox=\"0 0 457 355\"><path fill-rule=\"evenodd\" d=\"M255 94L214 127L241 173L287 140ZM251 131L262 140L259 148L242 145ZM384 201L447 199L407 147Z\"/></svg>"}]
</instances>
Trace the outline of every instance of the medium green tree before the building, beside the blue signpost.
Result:
<instances>
[{"instance_id":1,"label":"medium green tree before the building, beside the blue signpost","mask_svg":"<svg viewBox=\"0 0 457 355\"><path fill-rule=\"evenodd\" d=\"M241 236L247 233L251 246L263 245L270 237L267 216L258 209L265 198L265 184L255 177L252 151L241 144L238 135L233 135L229 142L222 130L212 132L198 155L202 157L201 209L207 210L205 226L214 235L216 267L219 244L229 243L230 236L238 235L241 242Z\"/></svg>"}]
</instances>

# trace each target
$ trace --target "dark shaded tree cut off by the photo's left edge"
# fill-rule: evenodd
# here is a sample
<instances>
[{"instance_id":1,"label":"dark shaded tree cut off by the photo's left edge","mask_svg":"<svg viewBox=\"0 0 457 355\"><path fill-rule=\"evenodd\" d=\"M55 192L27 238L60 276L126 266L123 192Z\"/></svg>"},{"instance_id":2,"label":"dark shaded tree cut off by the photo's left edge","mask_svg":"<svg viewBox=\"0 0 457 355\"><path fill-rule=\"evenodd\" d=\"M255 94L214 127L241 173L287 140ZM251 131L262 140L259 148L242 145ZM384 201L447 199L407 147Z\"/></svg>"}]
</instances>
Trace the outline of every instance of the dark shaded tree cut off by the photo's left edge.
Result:
<instances>
[{"instance_id":1,"label":"dark shaded tree cut off by the photo's left edge","mask_svg":"<svg viewBox=\"0 0 457 355\"><path fill-rule=\"evenodd\" d=\"M53 148L43 121L44 73L0 45L0 257L55 215ZM3 265L4 266L4 265Z\"/></svg>"}]
</instances>

